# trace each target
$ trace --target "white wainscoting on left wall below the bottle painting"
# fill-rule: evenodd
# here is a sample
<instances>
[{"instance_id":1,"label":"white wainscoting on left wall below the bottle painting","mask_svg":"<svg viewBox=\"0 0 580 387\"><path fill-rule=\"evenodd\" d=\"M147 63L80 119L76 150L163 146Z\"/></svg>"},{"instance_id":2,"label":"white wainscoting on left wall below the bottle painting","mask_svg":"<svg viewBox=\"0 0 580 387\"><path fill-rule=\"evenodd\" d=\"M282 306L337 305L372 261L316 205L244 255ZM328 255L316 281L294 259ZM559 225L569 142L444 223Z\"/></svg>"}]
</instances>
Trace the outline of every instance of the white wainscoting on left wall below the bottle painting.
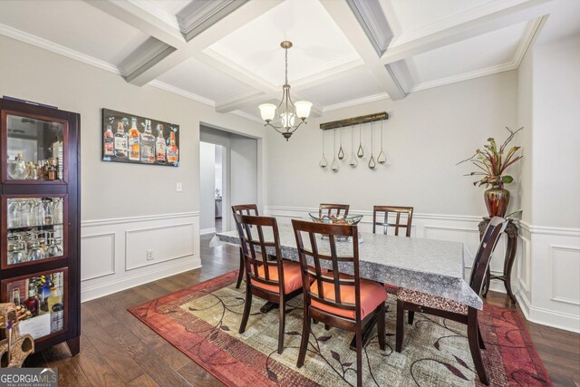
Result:
<instances>
[{"instance_id":1,"label":"white wainscoting on left wall below the bottle painting","mask_svg":"<svg viewBox=\"0 0 580 387\"><path fill-rule=\"evenodd\" d=\"M83 221L82 301L200 267L198 220L187 212Z\"/></svg>"}]
</instances>

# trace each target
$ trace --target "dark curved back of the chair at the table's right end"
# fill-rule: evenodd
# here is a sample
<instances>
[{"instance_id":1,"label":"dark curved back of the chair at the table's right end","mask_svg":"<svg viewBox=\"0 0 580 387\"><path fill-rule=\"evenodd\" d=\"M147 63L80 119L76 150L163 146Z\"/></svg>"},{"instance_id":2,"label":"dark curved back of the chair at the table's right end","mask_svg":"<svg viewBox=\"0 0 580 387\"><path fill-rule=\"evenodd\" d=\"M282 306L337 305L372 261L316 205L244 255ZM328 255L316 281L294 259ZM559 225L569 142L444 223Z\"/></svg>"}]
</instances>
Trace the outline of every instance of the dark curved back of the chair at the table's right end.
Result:
<instances>
[{"instance_id":1,"label":"dark curved back of the chair at the table's right end","mask_svg":"<svg viewBox=\"0 0 580 387\"><path fill-rule=\"evenodd\" d=\"M507 227L509 220L500 217L494 217L489 220L488 227L483 233L481 242L479 243L478 252L475 255L473 261L473 267L471 268L471 276L469 276L469 286L478 295L481 294L481 289L483 287L484 279L486 273L488 272L489 261L491 260L491 255L493 250L498 245L499 237Z\"/></svg>"}]
</instances>

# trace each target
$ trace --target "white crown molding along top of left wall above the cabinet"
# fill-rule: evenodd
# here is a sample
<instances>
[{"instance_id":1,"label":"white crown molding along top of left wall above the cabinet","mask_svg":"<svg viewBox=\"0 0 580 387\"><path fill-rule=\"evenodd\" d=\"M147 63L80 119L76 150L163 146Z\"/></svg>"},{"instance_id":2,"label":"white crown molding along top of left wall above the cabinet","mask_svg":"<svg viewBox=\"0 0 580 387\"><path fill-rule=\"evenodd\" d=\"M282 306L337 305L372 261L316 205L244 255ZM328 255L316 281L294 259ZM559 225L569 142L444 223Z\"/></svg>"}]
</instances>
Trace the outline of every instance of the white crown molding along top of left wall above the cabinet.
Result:
<instances>
[{"instance_id":1,"label":"white crown molding along top of left wall above the cabinet","mask_svg":"<svg viewBox=\"0 0 580 387\"><path fill-rule=\"evenodd\" d=\"M115 73L121 76L125 75L119 67L112 63L102 61L84 53L79 53L78 51L64 47L61 44L55 44L49 40L43 39L34 34L25 33L24 31L17 30L5 24L0 24L0 34L25 44L32 44L46 51L50 51L51 53L58 53L59 55L74 59L75 61L90 64L110 73Z\"/></svg>"}]
</instances>

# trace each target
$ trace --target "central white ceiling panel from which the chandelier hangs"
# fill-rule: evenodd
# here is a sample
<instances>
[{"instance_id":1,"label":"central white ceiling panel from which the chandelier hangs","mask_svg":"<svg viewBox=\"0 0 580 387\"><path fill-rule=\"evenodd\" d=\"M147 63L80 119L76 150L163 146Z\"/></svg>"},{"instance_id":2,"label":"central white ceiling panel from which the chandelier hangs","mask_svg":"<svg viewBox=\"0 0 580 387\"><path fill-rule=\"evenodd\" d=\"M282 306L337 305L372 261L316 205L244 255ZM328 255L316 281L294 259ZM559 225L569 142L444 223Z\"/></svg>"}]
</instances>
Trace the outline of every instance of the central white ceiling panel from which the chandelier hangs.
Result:
<instances>
[{"instance_id":1,"label":"central white ceiling panel from which the chandelier hangs","mask_svg":"<svg viewBox=\"0 0 580 387\"><path fill-rule=\"evenodd\" d=\"M288 50L290 82L359 59L323 5L315 0L286 0L205 52L217 53L267 82L281 85L285 59L280 43L285 40L294 44Z\"/></svg>"}]
</instances>

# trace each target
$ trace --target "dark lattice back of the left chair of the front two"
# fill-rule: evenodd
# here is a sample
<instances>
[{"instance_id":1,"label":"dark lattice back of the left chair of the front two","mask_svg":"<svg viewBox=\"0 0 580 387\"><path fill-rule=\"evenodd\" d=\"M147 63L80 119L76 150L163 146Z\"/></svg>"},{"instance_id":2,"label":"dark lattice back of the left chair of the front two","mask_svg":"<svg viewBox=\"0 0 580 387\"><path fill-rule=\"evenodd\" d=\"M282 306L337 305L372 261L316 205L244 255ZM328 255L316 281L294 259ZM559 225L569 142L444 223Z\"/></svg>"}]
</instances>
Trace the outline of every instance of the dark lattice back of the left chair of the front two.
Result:
<instances>
[{"instance_id":1,"label":"dark lattice back of the left chair of the front two","mask_svg":"<svg viewBox=\"0 0 580 387\"><path fill-rule=\"evenodd\" d=\"M235 214L237 233L239 234L242 256L246 266L246 275L249 285L259 282L266 285L284 284L284 270L282 269L282 259L280 256L280 237L278 235L278 225L275 218L256 217L252 215ZM256 227L254 232L252 228ZM266 235L271 235L273 240L265 239ZM257 237L256 237L257 236ZM275 260L268 260L268 250L275 250ZM258 267L264 266L264 273L260 275ZM278 279L272 278L272 273L277 272ZM284 289L280 289L280 294Z\"/></svg>"}]
</instances>

